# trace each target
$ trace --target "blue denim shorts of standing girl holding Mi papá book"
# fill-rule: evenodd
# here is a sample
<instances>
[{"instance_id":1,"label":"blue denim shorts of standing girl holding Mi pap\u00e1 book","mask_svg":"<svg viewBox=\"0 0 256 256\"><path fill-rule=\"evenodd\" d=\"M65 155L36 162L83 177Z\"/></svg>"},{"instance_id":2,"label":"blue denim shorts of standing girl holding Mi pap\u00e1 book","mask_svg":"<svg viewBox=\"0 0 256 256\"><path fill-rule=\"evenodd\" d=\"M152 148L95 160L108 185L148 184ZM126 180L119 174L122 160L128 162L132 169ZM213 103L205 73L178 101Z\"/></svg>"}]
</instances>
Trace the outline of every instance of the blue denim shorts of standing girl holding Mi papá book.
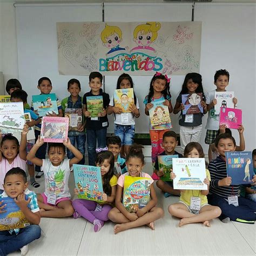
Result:
<instances>
[{"instance_id":1,"label":"blue denim shorts of standing girl holding Mi pap\u00e1 book","mask_svg":"<svg viewBox=\"0 0 256 256\"><path fill-rule=\"evenodd\" d=\"M114 134L120 137L122 146L131 146L133 144L135 134L135 125L114 124Z\"/></svg>"}]
</instances>

